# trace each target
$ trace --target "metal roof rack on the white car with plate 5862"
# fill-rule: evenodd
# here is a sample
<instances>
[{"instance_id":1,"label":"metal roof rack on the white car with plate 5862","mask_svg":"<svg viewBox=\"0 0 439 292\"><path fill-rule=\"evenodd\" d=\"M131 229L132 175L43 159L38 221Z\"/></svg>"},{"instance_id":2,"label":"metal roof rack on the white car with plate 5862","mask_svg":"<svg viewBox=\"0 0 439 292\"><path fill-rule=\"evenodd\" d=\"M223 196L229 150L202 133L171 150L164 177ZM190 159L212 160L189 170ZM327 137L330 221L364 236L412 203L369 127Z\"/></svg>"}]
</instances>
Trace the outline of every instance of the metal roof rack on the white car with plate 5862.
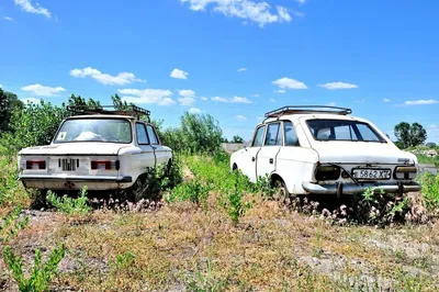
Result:
<instances>
[{"instance_id":1,"label":"metal roof rack on the white car with plate 5862","mask_svg":"<svg viewBox=\"0 0 439 292\"><path fill-rule=\"evenodd\" d=\"M300 114L300 113L331 113L347 115L352 113L351 109L329 106L329 105L286 105L274 111L266 113L266 117L278 117L282 114Z\"/></svg>"}]
</instances>

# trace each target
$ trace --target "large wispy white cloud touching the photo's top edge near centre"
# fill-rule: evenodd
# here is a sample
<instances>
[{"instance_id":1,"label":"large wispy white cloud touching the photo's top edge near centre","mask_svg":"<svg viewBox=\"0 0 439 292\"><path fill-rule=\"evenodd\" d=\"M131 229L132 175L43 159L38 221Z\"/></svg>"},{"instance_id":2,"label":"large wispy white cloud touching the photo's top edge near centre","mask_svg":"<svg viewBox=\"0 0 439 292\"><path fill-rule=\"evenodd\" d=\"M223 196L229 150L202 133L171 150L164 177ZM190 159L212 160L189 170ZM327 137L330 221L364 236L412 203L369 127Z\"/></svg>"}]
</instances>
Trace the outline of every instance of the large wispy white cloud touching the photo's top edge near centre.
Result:
<instances>
[{"instance_id":1,"label":"large wispy white cloud touching the photo's top edge near centre","mask_svg":"<svg viewBox=\"0 0 439 292\"><path fill-rule=\"evenodd\" d=\"M180 2L188 2L193 11L205 11L206 7L211 5L214 12L243 19L245 23L254 22L259 26L267 23L291 22L292 20L286 8L278 5L275 13L271 11L271 7L267 2L251 0L180 0Z\"/></svg>"}]
</instances>

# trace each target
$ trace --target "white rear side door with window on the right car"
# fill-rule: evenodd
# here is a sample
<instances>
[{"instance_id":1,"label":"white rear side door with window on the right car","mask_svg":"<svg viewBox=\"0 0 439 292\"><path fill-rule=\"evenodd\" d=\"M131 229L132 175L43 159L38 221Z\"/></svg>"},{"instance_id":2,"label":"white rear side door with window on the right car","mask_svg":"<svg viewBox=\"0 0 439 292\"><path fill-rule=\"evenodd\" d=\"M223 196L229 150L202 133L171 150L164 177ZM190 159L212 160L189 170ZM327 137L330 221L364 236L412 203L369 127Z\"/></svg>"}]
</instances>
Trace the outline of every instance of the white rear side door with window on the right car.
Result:
<instances>
[{"instance_id":1,"label":"white rear side door with window on the right car","mask_svg":"<svg viewBox=\"0 0 439 292\"><path fill-rule=\"evenodd\" d=\"M257 155L257 178L270 176L275 170L277 156L282 145L282 136L281 122L267 124L263 145Z\"/></svg>"}]
</instances>

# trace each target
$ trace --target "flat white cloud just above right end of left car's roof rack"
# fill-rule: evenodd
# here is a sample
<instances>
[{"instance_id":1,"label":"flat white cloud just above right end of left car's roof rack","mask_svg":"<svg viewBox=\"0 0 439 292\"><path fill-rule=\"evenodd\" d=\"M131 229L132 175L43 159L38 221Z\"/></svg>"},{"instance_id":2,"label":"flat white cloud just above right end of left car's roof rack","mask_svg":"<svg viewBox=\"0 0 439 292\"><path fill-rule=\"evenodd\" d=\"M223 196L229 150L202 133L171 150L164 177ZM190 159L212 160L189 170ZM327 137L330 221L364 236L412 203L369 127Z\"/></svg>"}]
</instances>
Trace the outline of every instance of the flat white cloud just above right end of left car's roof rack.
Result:
<instances>
[{"instance_id":1,"label":"flat white cloud just above right end of left car's roof rack","mask_svg":"<svg viewBox=\"0 0 439 292\"><path fill-rule=\"evenodd\" d=\"M126 102L135 104L172 105L176 101L171 99L172 92L167 89L120 89L120 93L126 94L122 97Z\"/></svg>"}]
</instances>

